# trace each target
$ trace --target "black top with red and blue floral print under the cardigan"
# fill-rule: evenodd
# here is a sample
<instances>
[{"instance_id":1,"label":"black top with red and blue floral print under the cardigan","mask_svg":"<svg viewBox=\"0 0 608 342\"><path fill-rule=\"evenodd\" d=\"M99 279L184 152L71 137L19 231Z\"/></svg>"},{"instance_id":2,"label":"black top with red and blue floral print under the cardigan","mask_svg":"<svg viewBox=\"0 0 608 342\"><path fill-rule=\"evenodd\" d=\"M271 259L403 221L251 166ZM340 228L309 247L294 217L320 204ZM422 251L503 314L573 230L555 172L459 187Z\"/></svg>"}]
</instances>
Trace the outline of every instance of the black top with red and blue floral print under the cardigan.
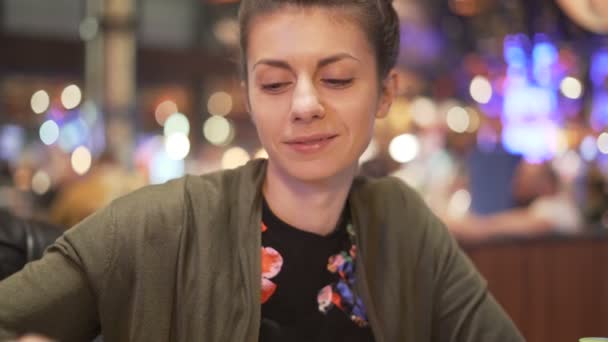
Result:
<instances>
[{"instance_id":1,"label":"black top with red and blue floral print under the cardigan","mask_svg":"<svg viewBox=\"0 0 608 342\"><path fill-rule=\"evenodd\" d=\"M264 202L260 341L374 341L355 292L347 217L320 236L281 221Z\"/></svg>"}]
</instances>

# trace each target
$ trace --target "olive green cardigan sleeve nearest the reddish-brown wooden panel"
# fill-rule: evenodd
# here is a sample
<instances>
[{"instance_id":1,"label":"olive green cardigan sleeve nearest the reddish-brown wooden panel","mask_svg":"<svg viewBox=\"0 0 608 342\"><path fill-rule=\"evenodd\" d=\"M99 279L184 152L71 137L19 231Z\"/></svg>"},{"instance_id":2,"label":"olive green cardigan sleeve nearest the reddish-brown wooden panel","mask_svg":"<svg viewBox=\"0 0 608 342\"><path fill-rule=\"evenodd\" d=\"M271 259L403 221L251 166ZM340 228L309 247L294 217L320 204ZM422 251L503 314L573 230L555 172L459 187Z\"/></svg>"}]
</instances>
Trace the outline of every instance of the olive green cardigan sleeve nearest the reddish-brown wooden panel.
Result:
<instances>
[{"instance_id":1,"label":"olive green cardigan sleeve nearest the reddish-brown wooden panel","mask_svg":"<svg viewBox=\"0 0 608 342\"><path fill-rule=\"evenodd\" d=\"M433 253L433 341L524 341L445 226L429 213Z\"/></svg>"}]
</instances>

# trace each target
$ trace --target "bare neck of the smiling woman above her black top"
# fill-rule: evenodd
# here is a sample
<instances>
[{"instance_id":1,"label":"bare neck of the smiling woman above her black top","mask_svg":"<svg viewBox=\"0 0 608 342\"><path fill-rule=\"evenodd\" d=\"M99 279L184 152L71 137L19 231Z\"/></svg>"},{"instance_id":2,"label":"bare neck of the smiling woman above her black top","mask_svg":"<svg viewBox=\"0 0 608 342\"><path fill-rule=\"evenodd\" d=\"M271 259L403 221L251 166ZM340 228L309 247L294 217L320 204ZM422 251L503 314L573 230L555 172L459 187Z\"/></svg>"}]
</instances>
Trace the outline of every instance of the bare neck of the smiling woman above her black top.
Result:
<instances>
[{"instance_id":1,"label":"bare neck of the smiling woman above her black top","mask_svg":"<svg viewBox=\"0 0 608 342\"><path fill-rule=\"evenodd\" d=\"M263 193L272 212L298 229L328 235L336 227L356 172L351 169L319 182L293 179L268 162Z\"/></svg>"}]
</instances>

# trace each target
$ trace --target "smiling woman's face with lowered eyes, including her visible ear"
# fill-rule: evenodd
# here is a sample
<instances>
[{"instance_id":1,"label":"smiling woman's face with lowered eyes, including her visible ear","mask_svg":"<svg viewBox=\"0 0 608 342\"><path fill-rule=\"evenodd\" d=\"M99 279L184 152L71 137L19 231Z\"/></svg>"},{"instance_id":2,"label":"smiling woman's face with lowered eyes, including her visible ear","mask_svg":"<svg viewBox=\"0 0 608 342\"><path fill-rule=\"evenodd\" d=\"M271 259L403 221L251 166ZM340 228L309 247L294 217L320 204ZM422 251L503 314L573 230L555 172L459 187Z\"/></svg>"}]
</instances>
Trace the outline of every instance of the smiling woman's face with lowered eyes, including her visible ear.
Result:
<instances>
[{"instance_id":1,"label":"smiling woman's face with lowered eyes, including her visible ear","mask_svg":"<svg viewBox=\"0 0 608 342\"><path fill-rule=\"evenodd\" d=\"M379 86L374 51L346 18L284 7L251 23L249 109L271 168L299 180L354 170L375 117L390 107L392 88Z\"/></svg>"}]
</instances>

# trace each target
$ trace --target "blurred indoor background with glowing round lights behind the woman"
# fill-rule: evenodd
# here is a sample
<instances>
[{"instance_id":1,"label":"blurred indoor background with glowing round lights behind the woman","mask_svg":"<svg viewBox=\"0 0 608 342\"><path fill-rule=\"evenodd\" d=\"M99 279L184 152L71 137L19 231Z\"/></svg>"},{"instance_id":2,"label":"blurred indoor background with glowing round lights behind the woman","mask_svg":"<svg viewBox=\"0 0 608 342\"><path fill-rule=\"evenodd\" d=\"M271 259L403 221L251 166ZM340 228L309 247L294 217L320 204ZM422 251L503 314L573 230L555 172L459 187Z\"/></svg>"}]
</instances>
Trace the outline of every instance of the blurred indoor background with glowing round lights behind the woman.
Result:
<instances>
[{"instance_id":1,"label":"blurred indoor background with glowing round lights behind the woman","mask_svg":"<svg viewBox=\"0 0 608 342\"><path fill-rule=\"evenodd\" d=\"M420 190L529 340L608 335L608 2L394 6L399 94L361 172ZM68 228L145 184L264 157L237 7L2 0L0 207Z\"/></svg>"}]
</instances>

